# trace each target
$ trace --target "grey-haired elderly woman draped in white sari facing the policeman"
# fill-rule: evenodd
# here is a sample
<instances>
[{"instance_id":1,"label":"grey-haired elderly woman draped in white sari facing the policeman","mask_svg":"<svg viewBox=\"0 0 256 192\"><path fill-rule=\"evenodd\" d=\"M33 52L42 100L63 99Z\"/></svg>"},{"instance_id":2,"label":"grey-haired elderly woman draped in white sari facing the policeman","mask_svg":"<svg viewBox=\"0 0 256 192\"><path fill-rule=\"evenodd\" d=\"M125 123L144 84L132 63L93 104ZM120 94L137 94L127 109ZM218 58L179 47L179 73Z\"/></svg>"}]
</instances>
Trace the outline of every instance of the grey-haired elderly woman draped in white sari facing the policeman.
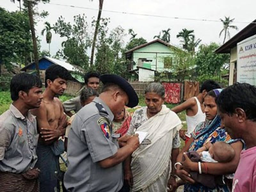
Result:
<instances>
[{"instance_id":1,"label":"grey-haired elderly woman draped in white sari facing the policeman","mask_svg":"<svg viewBox=\"0 0 256 192\"><path fill-rule=\"evenodd\" d=\"M146 139L151 141L141 144L125 162L124 179L132 191L166 191L168 184L176 184L173 166L179 153L181 121L164 105L164 96L162 84L149 84L145 91L147 106L137 109L132 116L127 134L132 135L135 130L148 132Z\"/></svg>"}]
</instances>

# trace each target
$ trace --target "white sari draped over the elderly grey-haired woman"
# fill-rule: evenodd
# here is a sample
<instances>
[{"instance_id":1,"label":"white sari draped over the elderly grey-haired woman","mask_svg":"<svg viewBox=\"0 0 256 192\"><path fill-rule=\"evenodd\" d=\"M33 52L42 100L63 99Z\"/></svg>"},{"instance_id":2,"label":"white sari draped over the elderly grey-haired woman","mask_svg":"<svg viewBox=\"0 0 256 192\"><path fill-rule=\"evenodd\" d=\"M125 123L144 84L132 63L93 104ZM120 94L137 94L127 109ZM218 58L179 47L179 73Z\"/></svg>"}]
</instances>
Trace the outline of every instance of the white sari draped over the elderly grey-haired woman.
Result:
<instances>
[{"instance_id":1,"label":"white sari draped over the elderly grey-haired woman","mask_svg":"<svg viewBox=\"0 0 256 192\"><path fill-rule=\"evenodd\" d=\"M140 145L132 153L132 191L166 191L172 140L180 128L180 118L165 105L162 105L159 113L137 128L137 131L149 133L147 139L151 144ZM128 134L132 131L129 130Z\"/></svg>"}]
</instances>

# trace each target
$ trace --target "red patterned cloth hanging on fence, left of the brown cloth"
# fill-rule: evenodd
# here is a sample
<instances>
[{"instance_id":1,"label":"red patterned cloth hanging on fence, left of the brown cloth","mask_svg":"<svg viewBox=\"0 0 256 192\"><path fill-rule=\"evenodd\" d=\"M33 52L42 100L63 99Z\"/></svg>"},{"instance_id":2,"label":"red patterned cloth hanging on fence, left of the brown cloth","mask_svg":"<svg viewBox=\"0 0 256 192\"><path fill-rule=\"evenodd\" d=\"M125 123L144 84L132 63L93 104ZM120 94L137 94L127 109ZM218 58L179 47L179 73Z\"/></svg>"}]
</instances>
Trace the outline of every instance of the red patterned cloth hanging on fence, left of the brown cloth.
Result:
<instances>
[{"instance_id":1,"label":"red patterned cloth hanging on fence, left of the brown cloth","mask_svg":"<svg viewBox=\"0 0 256 192\"><path fill-rule=\"evenodd\" d=\"M180 83L162 83L165 89L165 102L166 103L179 103L180 102Z\"/></svg>"}]
</instances>

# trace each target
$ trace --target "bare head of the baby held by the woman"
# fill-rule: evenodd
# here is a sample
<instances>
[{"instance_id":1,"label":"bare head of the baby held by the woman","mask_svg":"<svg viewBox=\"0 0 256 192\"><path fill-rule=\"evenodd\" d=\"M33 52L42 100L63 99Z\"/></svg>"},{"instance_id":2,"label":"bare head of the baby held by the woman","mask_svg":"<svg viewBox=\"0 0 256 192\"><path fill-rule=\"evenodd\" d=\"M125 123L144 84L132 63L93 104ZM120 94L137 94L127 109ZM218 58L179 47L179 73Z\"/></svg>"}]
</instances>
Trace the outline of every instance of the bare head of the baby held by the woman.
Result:
<instances>
[{"instance_id":1,"label":"bare head of the baby held by the woman","mask_svg":"<svg viewBox=\"0 0 256 192\"><path fill-rule=\"evenodd\" d=\"M215 142L209 148L209 153L214 160L222 163L231 161L236 155L235 150L224 141Z\"/></svg>"}]
</instances>

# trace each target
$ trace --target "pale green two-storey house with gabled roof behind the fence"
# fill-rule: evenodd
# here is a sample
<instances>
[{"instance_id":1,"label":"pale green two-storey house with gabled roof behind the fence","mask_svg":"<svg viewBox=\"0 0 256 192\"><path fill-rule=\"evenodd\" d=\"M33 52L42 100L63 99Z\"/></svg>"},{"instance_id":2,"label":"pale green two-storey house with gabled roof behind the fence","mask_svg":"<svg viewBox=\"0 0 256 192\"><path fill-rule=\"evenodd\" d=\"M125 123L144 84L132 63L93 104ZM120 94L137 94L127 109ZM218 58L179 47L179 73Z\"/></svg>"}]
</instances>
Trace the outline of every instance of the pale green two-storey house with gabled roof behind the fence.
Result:
<instances>
[{"instance_id":1,"label":"pale green two-storey house with gabled roof behind the fence","mask_svg":"<svg viewBox=\"0 0 256 192\"><path fill-rule=\"evenodd\" d=\"M166 59L166 57L174 56L171 48L178 49L161 39L156 39L126 51L125 57L129 61L128 71L131 72L130 80L144 79L145 81L148 76L148 81L151 81L152 70L155 72L170 71L172 59ZM143 74L139 74L139 68L149 70L143 70Z\"/></svg>"}]
</instances>

